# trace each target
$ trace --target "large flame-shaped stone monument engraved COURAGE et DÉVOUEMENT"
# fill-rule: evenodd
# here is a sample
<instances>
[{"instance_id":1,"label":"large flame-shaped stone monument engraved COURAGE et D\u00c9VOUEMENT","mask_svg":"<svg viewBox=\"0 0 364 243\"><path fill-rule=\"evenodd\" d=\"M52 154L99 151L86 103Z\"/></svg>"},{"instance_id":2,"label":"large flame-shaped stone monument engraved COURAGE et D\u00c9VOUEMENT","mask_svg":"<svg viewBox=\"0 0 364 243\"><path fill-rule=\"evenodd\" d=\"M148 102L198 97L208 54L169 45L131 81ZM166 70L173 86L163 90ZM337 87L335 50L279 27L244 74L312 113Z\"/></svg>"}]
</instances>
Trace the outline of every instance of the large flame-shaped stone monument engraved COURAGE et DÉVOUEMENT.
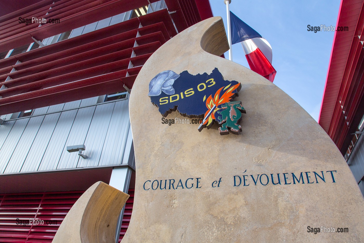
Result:
<instances>
[{"instance_id":1,"label":"large flame-shaped stone monument engraved COURAGE et D\u00c9VOUEMENT","mask_svg":"<svg viewBox=\"0 0 364 243\"><path fill-rule=\"evenodd\" d=\"M335 144L276 85L219 57L227 49L214 17L166 42L142 67L130 96L137 174L122 242L364 242L363 196ZM199 132L199 124L162 123L149 81L164 70L196 75L215 67L241 82L240 135L221 136L216 124ZM175 117L192 120L178 112L167 119ZM308 232L321 226L348 233Z\"/></svg>"}]
</instances>

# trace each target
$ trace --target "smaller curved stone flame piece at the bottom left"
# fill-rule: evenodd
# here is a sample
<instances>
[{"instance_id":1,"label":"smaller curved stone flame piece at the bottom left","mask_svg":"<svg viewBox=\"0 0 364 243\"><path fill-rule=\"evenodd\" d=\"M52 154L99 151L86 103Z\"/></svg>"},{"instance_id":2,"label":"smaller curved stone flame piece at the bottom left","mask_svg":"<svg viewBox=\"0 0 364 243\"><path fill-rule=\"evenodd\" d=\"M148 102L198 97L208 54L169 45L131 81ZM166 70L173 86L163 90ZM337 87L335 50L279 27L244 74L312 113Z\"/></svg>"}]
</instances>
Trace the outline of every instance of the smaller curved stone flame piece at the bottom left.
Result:
<instances>
[{"instance_id":1,"label":"smaller curved stone flame piece at the bottom left","mask_svg":"<svg viewBox=\"0 0 364 243\"><path fill-rule=\"evenodd\" d=\"M52 243L115 242L116 223L129 195L96 182L72 206Z\"/></svg>"}]
</instances>

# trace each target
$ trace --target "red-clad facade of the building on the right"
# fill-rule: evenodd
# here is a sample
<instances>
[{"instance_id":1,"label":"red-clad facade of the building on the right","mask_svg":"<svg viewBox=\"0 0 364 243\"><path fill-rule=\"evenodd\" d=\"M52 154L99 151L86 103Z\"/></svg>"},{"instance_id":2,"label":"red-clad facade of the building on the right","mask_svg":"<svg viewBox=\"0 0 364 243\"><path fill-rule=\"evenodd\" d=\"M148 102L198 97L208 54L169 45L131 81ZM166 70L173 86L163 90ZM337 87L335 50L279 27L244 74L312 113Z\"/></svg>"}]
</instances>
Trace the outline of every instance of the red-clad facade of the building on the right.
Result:
<instances>
[{"instance_id":1,"label":"red-clad facade of the building on the right","mask_svg":"<svg viewBox=\"0 0 364 243\"><path fill-rule=\"evenodd\" d=\"M336 27L318 123L364 194L364 1L341 0Z\"/></svg>"}]
</instances>

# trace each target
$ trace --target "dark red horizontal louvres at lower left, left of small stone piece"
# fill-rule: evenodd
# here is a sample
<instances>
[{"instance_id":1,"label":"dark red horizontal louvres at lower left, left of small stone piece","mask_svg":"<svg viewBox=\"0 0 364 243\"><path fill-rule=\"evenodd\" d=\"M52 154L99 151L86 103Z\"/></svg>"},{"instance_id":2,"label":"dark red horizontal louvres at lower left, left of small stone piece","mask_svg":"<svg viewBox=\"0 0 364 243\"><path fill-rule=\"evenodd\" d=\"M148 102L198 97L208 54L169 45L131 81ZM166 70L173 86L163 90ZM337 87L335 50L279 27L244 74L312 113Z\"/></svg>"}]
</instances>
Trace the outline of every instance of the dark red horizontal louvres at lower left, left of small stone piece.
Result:
<instances>
[{"instance_id":1,"label":"dark red horizontal louvres at lower left, left of small stone piece","mask_svg":"<svg viewBox=\"0 0 364 243\"><path fill-rule=\"evenodd\" d=\"M59 225L83 192L0 194L0 242L52 242ZM16 219L29 218L43 220L44 224L17 224ZM51 224L46 224L46 220L52 220Z\"/></svg>"}]
</instances>

